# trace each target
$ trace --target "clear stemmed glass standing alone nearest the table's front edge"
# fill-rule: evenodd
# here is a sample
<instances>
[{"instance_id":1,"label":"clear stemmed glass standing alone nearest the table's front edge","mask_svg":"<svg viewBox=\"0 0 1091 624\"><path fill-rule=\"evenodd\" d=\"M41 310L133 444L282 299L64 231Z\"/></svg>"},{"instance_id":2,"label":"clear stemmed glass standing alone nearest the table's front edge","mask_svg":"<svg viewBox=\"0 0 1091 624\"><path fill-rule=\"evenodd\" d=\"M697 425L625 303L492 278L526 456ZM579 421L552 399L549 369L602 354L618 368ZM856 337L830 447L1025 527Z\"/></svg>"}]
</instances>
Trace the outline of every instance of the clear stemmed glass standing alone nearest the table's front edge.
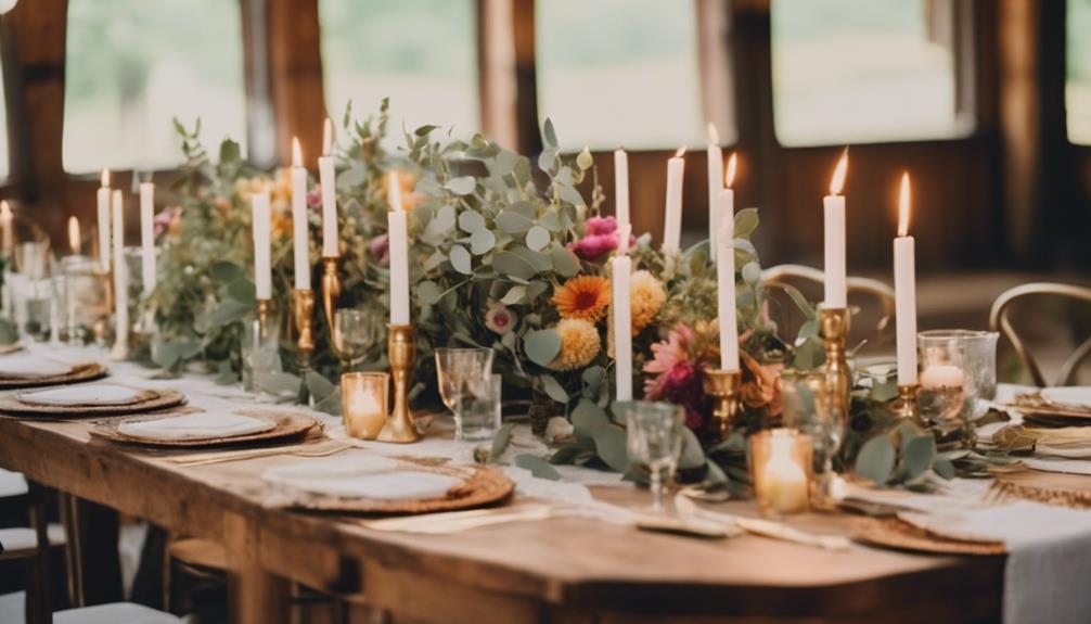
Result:
<instances>
[{"instance_id":1,"label":"clear stemmed glass standing alone nearest the table's front edge","mask_svg":"<svg viewBox=\"0 0 1091 624\"><path fill-rule=\"evenodd\" d=\"M625 413L628 460L651 473L651 512L663 513L663 481L678 467L685 411L667 403L633 401Z\"/></svg>"}]
</instances>

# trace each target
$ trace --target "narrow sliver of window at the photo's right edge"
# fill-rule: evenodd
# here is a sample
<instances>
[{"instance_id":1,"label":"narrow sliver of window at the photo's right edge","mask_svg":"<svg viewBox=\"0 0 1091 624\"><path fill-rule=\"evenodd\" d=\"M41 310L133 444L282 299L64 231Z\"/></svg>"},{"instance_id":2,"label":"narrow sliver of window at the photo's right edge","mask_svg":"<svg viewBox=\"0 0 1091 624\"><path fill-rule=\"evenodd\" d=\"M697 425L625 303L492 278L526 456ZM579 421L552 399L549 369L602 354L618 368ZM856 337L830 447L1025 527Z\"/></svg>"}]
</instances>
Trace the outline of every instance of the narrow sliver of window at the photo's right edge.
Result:
<instances>
[{"instance_id":1,"label":"narrow sliver of window at the photo's right edge","mask_svg":"<svg viewBox=\"0 0 1091 624\"><path fill-rule=\"evenodd\" d=\"M1068 140L1091 145L1091 0L1068 0Z\"/></svg>"}]
</instances>

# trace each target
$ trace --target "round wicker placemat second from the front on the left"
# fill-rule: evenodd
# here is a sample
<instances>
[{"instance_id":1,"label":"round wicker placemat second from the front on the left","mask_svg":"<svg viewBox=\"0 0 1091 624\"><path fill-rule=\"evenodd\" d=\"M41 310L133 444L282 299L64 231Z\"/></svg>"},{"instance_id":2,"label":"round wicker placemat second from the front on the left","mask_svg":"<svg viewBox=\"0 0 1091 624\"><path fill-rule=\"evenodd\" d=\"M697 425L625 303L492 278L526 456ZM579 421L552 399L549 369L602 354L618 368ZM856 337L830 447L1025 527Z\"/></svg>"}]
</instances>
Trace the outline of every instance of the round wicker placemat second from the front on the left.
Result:
<instances>
[{"instance_id":1,"label":"round wicker placemat second from the front on the left","mask_svg":"<svg viewBox=\"0 0 1091 624\"><path fill-rule=\"evenodd\" d=\"M231 435L227 437L194 437L189 440L160 440L157 437L144 437L121 433L118 428L125 422L144 422L148 420L161 420L165 418L177 418L192 413L192 411L177 413L154 413L142 416L117 417L100 420L95 423L91 434L109 440L111 442L122 442L127 444L139 444L141 446L170 446L170 447L208 447L208 446L233 446L252 442L268 442L286 437L297 437L309 433L315 427L321 427L314 417L295 412L277 411L271 409L248 409L238 410L231 413L236 416L248 416L259 420L272 422L274 428L260 433L248 433L245 435Z\"/></svg>"}]
</instances>

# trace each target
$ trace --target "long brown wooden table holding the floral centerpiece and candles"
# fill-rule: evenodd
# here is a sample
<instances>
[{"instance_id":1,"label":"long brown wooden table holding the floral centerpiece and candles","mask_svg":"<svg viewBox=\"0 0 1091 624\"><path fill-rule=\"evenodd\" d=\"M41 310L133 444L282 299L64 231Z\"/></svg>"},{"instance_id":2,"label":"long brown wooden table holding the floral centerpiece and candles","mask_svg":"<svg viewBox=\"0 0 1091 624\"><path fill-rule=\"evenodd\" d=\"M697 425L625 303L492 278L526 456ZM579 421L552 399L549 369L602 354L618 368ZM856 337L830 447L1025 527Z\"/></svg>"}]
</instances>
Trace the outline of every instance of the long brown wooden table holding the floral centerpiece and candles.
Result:
<instances>
[{"instance_id":1,"label":"long brown wooden table holding the floral centerpiece and candles","mask_svg":"<svg viewBox=\"0 0 1091 624\"><path fill-rule=\"evenodd\" d=\"M757 537L700 540L582 518L452 536L389 533L359 519L266 508L278 456L180 468L161 452L92 439L86 421L0 417L0 466L43 484L221 542L241 623L287 619L287 579L365 601L394 622L992 622L1003 557L849 552ZM349 451L357 453L361 451ZM597 495L646 504L646 492ZM727 511L753 514L747 503ZM847 518L800 526L846 531Z\"/></svg>"}]
</instances>

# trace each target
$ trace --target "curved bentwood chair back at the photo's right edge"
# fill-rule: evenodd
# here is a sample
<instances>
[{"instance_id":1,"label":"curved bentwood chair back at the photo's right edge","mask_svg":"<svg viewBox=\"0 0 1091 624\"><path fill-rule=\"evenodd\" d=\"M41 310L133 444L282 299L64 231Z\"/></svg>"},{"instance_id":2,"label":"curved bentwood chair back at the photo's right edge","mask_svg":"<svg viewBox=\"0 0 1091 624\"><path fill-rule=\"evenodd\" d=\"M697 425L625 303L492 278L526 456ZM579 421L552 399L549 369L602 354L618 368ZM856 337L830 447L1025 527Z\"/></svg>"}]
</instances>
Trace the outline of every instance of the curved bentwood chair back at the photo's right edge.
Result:
<instances>
[{"instance_id":1,"label":"curved bentwood chair back at the photo's right edge","mask_svg":"<svg viewBox=\"0 0 1091 624\"><path fill-rule=\"evenodd\" d=\"M1045 375L1042 374L1042 368L1027 348L1019 333L1016 332L1010 319L1012 303L1023 299L1041 297L1059 297L1071 302L1082 302L1091 305L1091 288L1070 284L1034 281L1016 286L997 297L993 303L993 310L988 314L988 325L994 332L1000 332L1000 334L1011 341L1011 347L1015 349L1019 360L1030 371L1034 385L1045 387L1050 384L1046 383ZM1089 356L1091 356L1091 336L1084 337L1078 344L1076 350L1062 364L1055 385L1064 386L1072 384L1076 381L1080 364L1088 361Z\"/></svg>"}]
</instances>

